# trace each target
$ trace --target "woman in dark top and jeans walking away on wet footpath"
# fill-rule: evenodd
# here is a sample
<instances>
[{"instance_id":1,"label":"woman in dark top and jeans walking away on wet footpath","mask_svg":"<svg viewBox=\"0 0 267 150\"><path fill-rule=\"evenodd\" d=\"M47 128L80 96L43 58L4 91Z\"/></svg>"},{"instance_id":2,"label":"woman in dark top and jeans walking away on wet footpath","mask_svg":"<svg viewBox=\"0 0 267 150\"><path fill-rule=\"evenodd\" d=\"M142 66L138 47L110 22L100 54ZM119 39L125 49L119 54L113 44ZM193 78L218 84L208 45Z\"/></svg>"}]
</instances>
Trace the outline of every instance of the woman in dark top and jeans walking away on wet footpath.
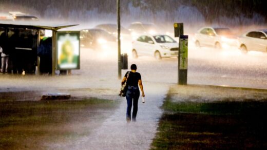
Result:
<instances>
[{"instance_id":1,"label":"woman in dark top and jeans walking away on wet footpath","mask_svg":"<svg viewBox=\"0 0 267 150\"><path fill-rule=\"evenodd\" d=\"M122 84L127 81L128 90L126 91L126 100L127 100L127 111L126 111L126 120L127 122L136 121L136 115L138 110L138 99L140 97L139 87L142 91L142 97L145 97L143 90L143 84L141 80L141 74L136 72L136 64L131 65L131 71L126 72L124 78L122 79ZM133 104L132 118L131 118L131 106Z\"/></svg>"}]
</instances>

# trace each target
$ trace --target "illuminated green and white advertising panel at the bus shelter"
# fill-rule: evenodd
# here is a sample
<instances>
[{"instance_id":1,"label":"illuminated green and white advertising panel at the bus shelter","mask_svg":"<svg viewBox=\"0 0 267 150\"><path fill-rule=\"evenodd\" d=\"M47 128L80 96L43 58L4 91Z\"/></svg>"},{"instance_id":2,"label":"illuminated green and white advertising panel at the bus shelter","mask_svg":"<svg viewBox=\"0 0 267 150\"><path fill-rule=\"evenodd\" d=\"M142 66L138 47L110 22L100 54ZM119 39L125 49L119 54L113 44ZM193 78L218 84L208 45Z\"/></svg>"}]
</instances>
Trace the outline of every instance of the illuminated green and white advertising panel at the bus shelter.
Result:
<instances>
[{"instance_id":1,"label":"illuminated green and white advertising panel at the bus shelter","mask_svg":"<svg viewBox=\"0 0 267 150\"><path fill-rule=\"evenodd\" d=\"M56 33L56 69L80 69L80 32Z\"/></svg>"}]
</instances>

